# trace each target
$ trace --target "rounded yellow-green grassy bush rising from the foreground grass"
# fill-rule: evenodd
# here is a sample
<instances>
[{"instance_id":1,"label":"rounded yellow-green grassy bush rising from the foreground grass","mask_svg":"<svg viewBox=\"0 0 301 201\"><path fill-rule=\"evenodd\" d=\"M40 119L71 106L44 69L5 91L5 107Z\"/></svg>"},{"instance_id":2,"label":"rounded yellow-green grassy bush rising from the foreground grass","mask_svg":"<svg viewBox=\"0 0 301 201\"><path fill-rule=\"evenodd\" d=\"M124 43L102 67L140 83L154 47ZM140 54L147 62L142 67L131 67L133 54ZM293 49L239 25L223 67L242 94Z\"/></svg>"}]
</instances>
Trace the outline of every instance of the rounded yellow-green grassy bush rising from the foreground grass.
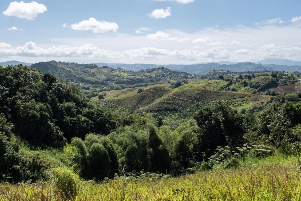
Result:
<instances>
[{"instance_id":1,"label":"rounded yellow-green grassy bush rising from the foreground grass","mask_svg":"<svg viewBox=\"0 0 301 201\"><path fill-rule=\"evenodd\" d=\"M49 174L50 180L54 185L56 193L65 199L73 199L79 191L81 180L79 175L69 168L53 168Z\"/></svg>"}]
</instances>

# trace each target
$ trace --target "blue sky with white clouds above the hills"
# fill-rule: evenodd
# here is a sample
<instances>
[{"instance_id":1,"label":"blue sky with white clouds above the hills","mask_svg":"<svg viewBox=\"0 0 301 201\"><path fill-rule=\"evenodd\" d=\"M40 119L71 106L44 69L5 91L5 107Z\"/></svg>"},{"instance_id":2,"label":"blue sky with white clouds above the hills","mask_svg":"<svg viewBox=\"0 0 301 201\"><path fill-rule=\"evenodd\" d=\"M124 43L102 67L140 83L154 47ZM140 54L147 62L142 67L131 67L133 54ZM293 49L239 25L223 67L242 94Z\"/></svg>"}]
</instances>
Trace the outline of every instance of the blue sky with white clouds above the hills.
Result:
<instances>
[{"instance_id":1,"label":"blue sky with white clouds above the hills","mask_svg":"<svg viewBox=\"0 0 301 201\"><path fill-rule=\"evenodd\" d=\"M0 1L0 62L301 60L300 0Z\"/></svg>"}]
</instances>

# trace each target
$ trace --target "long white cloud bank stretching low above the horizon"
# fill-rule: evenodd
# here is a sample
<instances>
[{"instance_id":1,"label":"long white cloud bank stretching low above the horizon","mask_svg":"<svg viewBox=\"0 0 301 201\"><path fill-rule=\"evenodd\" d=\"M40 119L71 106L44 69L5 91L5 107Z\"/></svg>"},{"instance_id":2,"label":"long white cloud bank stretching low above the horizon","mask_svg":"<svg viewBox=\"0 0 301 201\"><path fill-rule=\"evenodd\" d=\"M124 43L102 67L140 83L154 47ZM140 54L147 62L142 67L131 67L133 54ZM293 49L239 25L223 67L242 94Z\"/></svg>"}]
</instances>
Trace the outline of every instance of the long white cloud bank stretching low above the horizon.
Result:
<instances>
[{"instance_id":1,"label":"long white cloud bank stretching low above the horizon","mask_svg":"<svg viewBox=\"0 0 301 201\"><path fill-rule=\"evenodd\" d=\"M100 49L98 46L84 44L81 46L52 46L42 48L33 42L23 46L11 47L7 43L0 43L0 57L68 57L68 58L100 58L123 60L177 60L177 61L217 61L227 59L229 61L255 61L268 58L301 60L301 48L293 46L278 46L275 44L259 46L254 49L229 50L222 47L195 51L191 49L168 50L155 47L142 47L139 49L127 49L113 51Z\"/></svg>"}]
</instances>

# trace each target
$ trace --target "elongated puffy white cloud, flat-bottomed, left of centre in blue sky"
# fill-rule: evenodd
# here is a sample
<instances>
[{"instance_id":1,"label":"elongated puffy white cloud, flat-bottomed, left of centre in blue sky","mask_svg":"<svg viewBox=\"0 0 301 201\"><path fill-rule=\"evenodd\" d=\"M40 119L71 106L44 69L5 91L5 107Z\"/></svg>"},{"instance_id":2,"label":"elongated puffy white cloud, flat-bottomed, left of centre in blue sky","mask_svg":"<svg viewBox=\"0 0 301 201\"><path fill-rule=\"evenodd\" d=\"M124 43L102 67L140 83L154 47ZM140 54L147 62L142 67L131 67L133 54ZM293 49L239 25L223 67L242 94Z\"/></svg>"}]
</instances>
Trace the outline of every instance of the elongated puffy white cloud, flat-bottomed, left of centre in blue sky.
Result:
<instances>
[{"instance_id":1,"label":"elongated puffy white cloud, flat-bottomed, left of centre in blue sky","mask_svg":"<svg viewBox=\"0 0 301 201\"><path fill-rule=\"evenodd\" d=\"M89 18L89 20L83 20L76 24L71 24L71 28L74 30L93 30L93 33L105 33L116 32L119 28L115 22L98 21L95 18Z\"/></svg>"}]
</instances>

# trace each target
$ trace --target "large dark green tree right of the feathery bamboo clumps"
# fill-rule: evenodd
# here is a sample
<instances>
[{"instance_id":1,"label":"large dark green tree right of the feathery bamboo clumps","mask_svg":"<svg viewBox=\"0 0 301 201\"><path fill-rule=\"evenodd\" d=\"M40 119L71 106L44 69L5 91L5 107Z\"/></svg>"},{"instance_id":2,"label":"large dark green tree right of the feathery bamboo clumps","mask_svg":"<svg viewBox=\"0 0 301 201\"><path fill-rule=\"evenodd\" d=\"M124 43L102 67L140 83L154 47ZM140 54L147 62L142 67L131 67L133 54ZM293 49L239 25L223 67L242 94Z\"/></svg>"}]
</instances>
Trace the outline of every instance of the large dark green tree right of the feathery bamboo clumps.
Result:
<instances>
[{"instance_id":1,"label":"large dark green tree right of the feathery bamboo clumps","mask_svg":"<svg viewBox=\"0 0 301 201\"><path fill-rule=\"evenodd\" d=\"M217 146L235 144L242 140L241 117L225 102L218 101L200 109L194 116L200 127L198 157L206 160ZM203 154L202 154L203 153Z\"/></svg>"}]
</instances>

